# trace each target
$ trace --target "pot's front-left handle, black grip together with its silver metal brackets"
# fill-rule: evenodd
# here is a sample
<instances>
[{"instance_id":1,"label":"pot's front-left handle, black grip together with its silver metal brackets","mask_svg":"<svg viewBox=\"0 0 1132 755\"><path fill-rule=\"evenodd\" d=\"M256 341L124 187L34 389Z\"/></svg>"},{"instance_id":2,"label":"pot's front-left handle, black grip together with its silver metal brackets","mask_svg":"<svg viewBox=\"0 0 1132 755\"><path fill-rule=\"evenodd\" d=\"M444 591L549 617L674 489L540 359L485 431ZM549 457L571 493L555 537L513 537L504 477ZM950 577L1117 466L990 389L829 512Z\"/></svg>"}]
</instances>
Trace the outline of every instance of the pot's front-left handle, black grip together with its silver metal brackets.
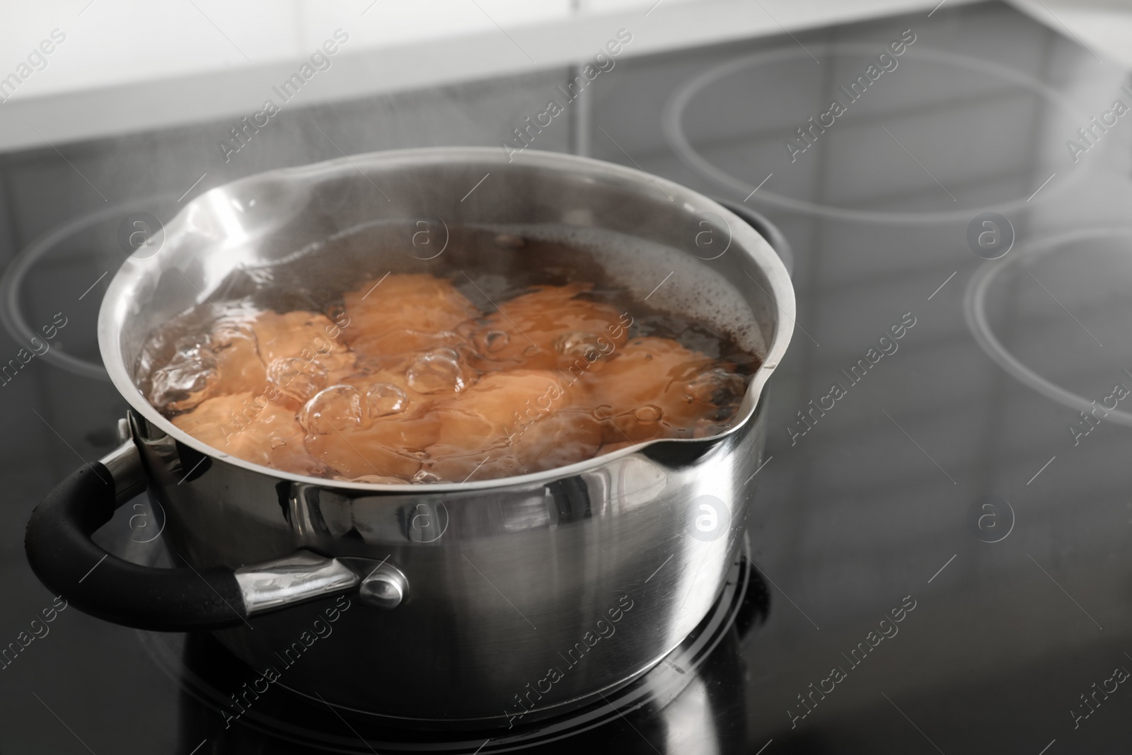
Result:
<instances>
[{"instance_id":1,"label":"pot's front-left handle, black grip together with its silver metal brackets","mask_svg":"<svg viewBox=\"0 0 1132 755\"><path fill-rule=\"evenodd\" d=\"M231 569L139 566L106 552L91 535L114 509L145 489L132 438L84 465L32 512L24 549L49 590L84 614L162 632L223 629L249 617L327 595L358 591L365 606L392 609L409 594L393 564L297 550L283 558Z\"/></svg>"}]
</instances>

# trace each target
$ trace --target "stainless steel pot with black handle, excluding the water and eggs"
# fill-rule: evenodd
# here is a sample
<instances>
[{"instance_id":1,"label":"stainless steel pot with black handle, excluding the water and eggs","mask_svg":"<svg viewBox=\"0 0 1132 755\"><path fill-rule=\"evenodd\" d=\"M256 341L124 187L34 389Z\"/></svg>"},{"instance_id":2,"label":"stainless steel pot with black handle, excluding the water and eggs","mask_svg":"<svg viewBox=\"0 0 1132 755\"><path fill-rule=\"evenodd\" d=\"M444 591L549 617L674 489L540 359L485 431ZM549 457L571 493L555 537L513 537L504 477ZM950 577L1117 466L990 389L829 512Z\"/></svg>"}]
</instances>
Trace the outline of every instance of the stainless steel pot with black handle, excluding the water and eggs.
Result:
<instances>
[{"instance_id":1,"label":"stainless steel pot with black handle, excluding the water and eggs","mask_svg":"<svg viewBox=\"0 0 1132 755\"><path fill-rule=\"evenodd\" d=\"M145 337L238 266L269 274L282 260L317 263L343 229L414 217L445 229L606 229L721 273L767 346L734 427L538 474L366 484L228 456L142 395ZM369 254L393 269L406 260L403 250ZM651 285L666 272L641 275ZM706 197L618 165L413 149L235 181L190 203L160 250L143 247L110 284L98 338L132 406L125 443L35 509L28 559L45 585L94 616L215 630L257 672L232 690L233 719L282 685L422 724L529 722L636 678L709 611L743 540L762 455L760 397L792 323L789 276L763 235ZM143 489L165 512L178 568L129 564L91 540Z\"/></svg>"}]
</instances>

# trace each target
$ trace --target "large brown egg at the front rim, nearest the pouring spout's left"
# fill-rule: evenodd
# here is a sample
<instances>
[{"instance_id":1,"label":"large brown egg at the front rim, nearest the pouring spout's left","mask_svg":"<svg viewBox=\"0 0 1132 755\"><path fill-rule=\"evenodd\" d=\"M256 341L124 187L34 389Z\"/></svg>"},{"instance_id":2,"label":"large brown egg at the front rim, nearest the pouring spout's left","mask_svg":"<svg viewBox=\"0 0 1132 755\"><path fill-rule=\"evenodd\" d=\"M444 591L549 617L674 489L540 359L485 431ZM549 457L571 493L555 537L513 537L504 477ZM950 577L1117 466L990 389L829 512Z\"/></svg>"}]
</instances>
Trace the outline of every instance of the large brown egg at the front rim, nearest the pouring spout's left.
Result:
<instances>
[{"instance_id":1,"label":"large brown egg at the front rim, nearest the pouring spout's left","mask_svg":"<svg viewBox=\"0 0 1132 755\"><path fill-rule=\"evenodd\" d=\"M585 386L543 370L492 372L437 402L436 441L423 470L463 482L565 466L591 457L601 429L585 411Z\"/></svg>"}]
</instances>

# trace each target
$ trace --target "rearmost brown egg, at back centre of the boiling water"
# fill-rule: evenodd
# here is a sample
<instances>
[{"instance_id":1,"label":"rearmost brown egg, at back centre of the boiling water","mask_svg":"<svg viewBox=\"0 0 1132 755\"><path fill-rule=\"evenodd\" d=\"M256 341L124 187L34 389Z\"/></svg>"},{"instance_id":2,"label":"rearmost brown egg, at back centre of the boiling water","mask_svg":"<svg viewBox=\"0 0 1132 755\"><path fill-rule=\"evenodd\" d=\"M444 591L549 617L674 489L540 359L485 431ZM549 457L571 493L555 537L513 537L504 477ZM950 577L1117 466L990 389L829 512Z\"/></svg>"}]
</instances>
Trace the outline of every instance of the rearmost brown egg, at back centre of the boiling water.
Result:
<instances>
[{"instance_id":1,"label":"rearmost brown egg, at back centre of the boiling water","mask_svg":"<svg viewBox=\"0 0 1132 755\"><path fill-rule=\"evenodd\" d=\"M456 327L480 311L446 280L426 273L367 281L345 294L343 338L370 357L393 357L464 343Z\"/></svg>"}]
</instances>

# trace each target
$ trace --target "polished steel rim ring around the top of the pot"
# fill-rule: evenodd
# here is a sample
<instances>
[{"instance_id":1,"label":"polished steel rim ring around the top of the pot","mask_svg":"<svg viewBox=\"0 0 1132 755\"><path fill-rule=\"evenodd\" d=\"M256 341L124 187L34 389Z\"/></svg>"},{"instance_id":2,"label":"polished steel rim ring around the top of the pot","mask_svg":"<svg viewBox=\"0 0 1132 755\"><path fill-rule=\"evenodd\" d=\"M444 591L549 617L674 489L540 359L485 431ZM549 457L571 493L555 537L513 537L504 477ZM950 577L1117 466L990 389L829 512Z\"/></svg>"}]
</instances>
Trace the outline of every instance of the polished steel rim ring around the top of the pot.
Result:
<instances>
[{"instance_id":1,"label":"polished steel rim ring around the top of the pot","mask_svg":"<svg viewBox=\"0 0 1132 755\"><path fill-rule=\"evenodd\" d=\"M693 191L687 187L661 177L654 177L643 171L608 163L591 157L581 157L554 152L542 152L537 149L525 149L517 161L512 160L498 147L423 147L411 149L391 149L381 152L370 152L352 156L343 156L320 163L311 163L297 168L282 168L263 173L256 173L235 181L221 185L194 198L178 212L178 214L165 224L165 233L170 235L172 230L183 225L186 218L194 207L199 207L208 201L208 197L215 197L217 191L231 190L233 187L247 188L254 185L271 186L278 182L316 181L324 180L335 173L348 173L353 171L363 172L366 166L405 166L413 164L452 164L462 162L479 165L506 165L511 162L524 162L534 166L550 170L577 172L578 169L586 169L584 172L599 172L604 177L612 178L620 182L633 185L642 191L654 191L661 188L670 200L680 204L687 209L696 212L714 213L727 222L732 238L732 246L738 247L738 251L745 254L747 258L756 265L766 276L770 283L770 298L772 304L777 307L774 335L767 345L766 353L762 354L763 362L751 378L747 392L744 395L739 409L740 417L735 424L727 430L707 438L655 438L643 441L612 453L594 456L582 462L576 462L567 466L559 466L542 472L532 472L506 478L495 478L490 480L477 480L473 482L436 482L436 483L403 483L386 484L376 482L352 482L346 480L333 480L328 478L311 477L286 472L271 466L255 464L237 456L226 454L214 448L185 432L171 421L165 419L135 385L123 359L121 344L119 341L118 323L125 316L125 292L131 290L134 284L144 276L146 271L146 259L128 257L122 266L114 274L106 292L103 294L102 306L98 310L98 350L102 353L102 361L106 367L111 381L118 392L126 398L132 409L145 418L152 426L160 429L165 435L174 438L181 444L201 453L203 455L222 461L250 472L265 474L275 479L290 480L317 486L326 489L355 490L372 494L448 494L465 492L472 490L489 490L492 488L538 486L554 480L573 477L607 463L643 451L646 447L659 444L698 444L717 443L720 439L738 431L746 426L758 404L766 380L771 372L781 362L786 354L787 346L794 333L795 320L795 295L790 276L786 271L782 260L774 252L770 243L753 229L746 221L720 205L713 199ZM736 243L738 242L738 243ZM168 248L162 248L156 255L172 254Z\"/></svg>"}]
</instances>

